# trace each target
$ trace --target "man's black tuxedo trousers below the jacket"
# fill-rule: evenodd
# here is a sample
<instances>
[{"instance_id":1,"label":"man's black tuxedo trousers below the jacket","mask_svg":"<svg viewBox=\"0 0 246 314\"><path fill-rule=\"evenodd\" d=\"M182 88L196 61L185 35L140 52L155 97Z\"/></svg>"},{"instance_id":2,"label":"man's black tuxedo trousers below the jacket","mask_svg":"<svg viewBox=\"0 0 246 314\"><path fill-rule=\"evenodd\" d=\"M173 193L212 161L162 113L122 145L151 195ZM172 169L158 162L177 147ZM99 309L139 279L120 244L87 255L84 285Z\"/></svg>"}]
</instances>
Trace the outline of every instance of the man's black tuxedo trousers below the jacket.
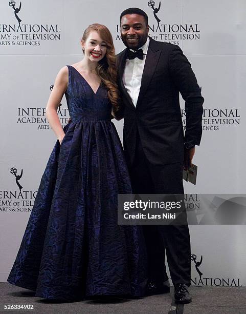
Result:
<instances>
[{"instance_id":1,"label":"man's black tuxedo trousers below the jacket","mask_svg":"<svg viewBox=\"0 0 246 314\"><path fill-rule=\"evenodd\" d=\"M135 194L184 194L183 163L151 164L143 151L139 134L133 163L129 166ZM186 211L184 209L185 219ZM187 221L187 220L186 220ZM156 284L167 280L165 251L173 285L190 286L190 234L188 224L143 225L148 253L148 277Z\"/></svg>"}]
</instances>

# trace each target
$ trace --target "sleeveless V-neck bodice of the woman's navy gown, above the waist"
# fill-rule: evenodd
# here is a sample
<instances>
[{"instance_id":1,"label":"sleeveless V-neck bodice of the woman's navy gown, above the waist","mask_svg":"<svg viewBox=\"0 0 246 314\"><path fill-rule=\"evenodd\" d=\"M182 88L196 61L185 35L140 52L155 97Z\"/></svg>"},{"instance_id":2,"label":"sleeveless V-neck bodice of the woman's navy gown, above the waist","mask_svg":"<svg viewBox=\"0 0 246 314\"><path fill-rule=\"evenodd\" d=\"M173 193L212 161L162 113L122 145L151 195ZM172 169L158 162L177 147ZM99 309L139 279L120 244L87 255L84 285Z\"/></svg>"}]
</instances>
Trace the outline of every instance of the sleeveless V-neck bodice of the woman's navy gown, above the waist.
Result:
<instances>
[{"instance_id":1,"label":"sleeveless V-neck bodice of the woman's navy gown, above the waist","mask_svg":"<svg viewBox=\"0 0 246 314\"><path fill-rule=\"evenodd\" d=\"M101 83L96 93L85 78L72 66L69 69L69 84L65 92L72 121L110 120L111 103L107 89Z\"/></svg>"}]
</instances>

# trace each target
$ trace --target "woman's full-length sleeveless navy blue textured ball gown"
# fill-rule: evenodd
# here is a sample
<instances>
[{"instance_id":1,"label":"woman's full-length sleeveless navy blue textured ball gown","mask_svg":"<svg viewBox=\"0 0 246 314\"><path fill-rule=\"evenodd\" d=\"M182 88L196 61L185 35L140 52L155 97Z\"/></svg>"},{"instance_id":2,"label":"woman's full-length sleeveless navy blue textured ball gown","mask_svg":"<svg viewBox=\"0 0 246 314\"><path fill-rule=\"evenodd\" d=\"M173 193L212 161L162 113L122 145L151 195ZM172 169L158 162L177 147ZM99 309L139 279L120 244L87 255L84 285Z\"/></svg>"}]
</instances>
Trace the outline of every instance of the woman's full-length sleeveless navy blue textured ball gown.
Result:
<instances>
[{"instance_id":1,"label":"woman's full-length sleeveless navy blue textured ball gown","mask_svg":"<svg viewBox=\"0 0 246 314\"><path fill-rule=\"evenodd\" d=\"M141 226L117 224L117 194L131 186L107 90L101 84L95 93L68 68L71 122L42 175L8 282L47 299L142 296Z\"/></svg>"}]
</instances>

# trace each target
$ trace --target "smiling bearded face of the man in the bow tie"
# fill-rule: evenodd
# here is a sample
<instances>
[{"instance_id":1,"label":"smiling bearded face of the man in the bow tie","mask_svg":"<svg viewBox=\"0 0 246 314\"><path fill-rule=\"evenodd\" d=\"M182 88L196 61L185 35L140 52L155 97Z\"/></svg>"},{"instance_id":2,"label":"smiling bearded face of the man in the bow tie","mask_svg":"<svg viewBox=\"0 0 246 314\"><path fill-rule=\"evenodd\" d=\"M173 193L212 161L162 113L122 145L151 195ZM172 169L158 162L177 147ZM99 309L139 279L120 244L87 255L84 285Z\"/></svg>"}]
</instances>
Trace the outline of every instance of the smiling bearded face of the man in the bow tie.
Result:
<instances>
[{"instance_id":1,"label":"smiling bearded face of the man in the bow tie","mask_svg":"<svg viewBox=\"0 0 246 314\"><path fill-rule=\"evenodd\" d=\"M138 50L148 38L149 27L139 14L126 14L121 18L121 39L127 48Z\"/></svg>"}]
</instances>

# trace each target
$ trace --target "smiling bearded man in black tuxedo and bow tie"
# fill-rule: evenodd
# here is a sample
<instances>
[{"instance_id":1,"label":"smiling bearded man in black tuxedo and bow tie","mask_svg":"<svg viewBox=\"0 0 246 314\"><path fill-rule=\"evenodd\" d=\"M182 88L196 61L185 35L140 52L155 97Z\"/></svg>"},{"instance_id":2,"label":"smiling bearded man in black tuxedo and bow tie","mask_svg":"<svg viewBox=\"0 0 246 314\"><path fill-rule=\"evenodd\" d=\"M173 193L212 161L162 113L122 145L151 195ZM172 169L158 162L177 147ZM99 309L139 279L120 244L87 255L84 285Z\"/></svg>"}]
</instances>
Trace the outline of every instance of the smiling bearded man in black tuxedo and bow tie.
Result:
<instances>
[{"instance_id":1,"label":"smiling bearded man in black tuxedo and bow tie","mask_svg":"<svg viewBox=\"0 0 246 314\"><path fill-rule=\"evenodd\" d=\"M120 16L127 47L117 56L124 116L123 142L133 193L183 194L183 165L189 168L202 136L204 99L182 50L148 37L148 16L130 8ZM183 133L179 92L185 100ZM185 213L186 216L186 213ZM165 249L175 300L191 302L190 237L187 224L143 226L149 260L147 294L169 292Z\"/></svg>"}]
</instances>

